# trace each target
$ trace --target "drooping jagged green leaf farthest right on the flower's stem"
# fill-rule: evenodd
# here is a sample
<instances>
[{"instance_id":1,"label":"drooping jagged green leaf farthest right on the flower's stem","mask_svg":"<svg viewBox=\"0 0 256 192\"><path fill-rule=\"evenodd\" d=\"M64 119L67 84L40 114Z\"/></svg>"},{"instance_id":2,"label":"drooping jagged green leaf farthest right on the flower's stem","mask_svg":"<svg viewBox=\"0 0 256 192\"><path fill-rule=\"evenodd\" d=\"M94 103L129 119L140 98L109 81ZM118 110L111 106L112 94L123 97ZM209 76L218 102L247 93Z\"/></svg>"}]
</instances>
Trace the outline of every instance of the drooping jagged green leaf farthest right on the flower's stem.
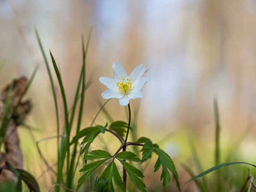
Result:
<instances>
[{"instance_id":1,"label":"drooping jagged green leaf farthest right on the flower's stem","mask_svg":"<svg viewBox=\"0 0 256 192\"><path fill-rule=\"evenodd\" d=\"M163 167L163 171L162 171L162 175L161 175L161 180L163 180L163 190L165 190L166 187L167 187L167 184L168 184L167 181L169 181L169 182L171 181L171 176L170 176L170 173L168 171L168 169L169 169L172 172L172 174L175 178L175 181L176 181L177 188L180 191L180 182L179 182L178 174L177 174L177 171L175 169L175 165L174 165L171 157L169 157L169 155L166 154L160 148L154 148L154 150L158 154L158 159L157 159L157 162L154 166L155 167L154 172L156 172L160 168L159 163L161 163L161 165Z\"/></svg>"}]
</instances>

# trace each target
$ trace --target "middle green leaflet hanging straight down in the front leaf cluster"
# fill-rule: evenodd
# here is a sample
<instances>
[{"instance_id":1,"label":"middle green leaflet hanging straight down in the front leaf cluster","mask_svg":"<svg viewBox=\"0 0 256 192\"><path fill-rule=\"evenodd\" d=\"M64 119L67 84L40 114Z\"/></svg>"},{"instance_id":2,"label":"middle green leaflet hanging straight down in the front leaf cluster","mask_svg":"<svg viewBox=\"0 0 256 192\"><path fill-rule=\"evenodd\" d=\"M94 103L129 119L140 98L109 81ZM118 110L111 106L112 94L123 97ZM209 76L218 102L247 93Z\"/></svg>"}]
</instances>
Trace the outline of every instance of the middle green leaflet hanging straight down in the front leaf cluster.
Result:
<instances>
[{"instance_id":1,"label":"middle green leaflet hanging straight down in the front leaf cluster","mask_svg":"<svg viewBox=\"0 0 256 192\"><path fill-rule=\"evenodd\" d=\"M120 176L118 169L116 167L116 163L114 161L112 161L104 170L104 172L102 173L102 175L100 176L100 178L107 178L107 181L110 185L112 184L112 180L114 180L117 188L122 191L125 192L125 184L122 181L122 177ZM106 191L112 191L113 187L109 186L108 190Z\"/></svg>"}]
</instances>

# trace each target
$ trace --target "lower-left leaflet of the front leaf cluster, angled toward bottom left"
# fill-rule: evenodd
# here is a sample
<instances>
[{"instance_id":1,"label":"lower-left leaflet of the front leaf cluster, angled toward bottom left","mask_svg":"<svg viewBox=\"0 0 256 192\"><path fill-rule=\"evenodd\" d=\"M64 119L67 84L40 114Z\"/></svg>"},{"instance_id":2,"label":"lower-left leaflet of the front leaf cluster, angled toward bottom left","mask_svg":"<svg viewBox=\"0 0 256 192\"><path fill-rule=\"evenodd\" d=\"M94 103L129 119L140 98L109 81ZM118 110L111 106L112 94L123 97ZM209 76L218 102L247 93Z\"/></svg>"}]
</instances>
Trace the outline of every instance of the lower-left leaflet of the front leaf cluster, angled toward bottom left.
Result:
<instances>
[{"instance_id":1,"label":"lower-left leaflet of the front leaf cluster, angled toward bottom left","mask_svg":"<svg viewBox=\"0 0 256 192\"><path fill-rule=\"evenodd\" d=\"M84 183L84 180L87 179L87 177L90 176L90 174L96 169L98 168L102 163L104 163L106 160L108 160L109 158L106 158L104 160L99 160L99 161L95 161L93 163L89 163L87 165L85 165L81 170L79 170L79 172L85 172L84 175L82 175L80 177L80 179L78 180L78 185L76 188L76 191L81 187L81 185Z\"/></svg>"}]
</instances>

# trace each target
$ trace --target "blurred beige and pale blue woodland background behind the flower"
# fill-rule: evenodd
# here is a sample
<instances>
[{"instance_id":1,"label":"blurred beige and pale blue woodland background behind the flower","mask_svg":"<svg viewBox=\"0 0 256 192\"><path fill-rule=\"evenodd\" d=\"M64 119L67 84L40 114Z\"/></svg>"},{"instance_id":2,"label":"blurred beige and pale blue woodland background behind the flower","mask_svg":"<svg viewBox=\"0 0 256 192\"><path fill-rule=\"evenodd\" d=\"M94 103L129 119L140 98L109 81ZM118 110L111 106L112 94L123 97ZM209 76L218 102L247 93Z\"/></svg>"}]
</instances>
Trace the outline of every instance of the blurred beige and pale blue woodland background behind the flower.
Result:
<instances>
[{"instance_id":1,"label":"blurred beige and pale blue woodland background behind the flower","mask_svg":"<svg viewBox=\"0 0 256 192\"><path fill-rule=\"evenodd\" d=\"M105 102L101 93L106 87L99 77L113 77L114 61L119 61L127 73L143 63L148 69L145 76L150 76L151 81L143 88L138 137L161 141L160 146L177 165L183 189L189 186L184 186L189 176L180 163L191 158L190 138L204 160L204 169L213 165L214 97L218 98L220 110L221 157L250 128L236 152L239 161L256 160L256 153L251 152L256 148L254 0L0 0L0 85L3 87L13 77L29 78L40 64L27 95L34 103L27 124L37 128L35 140L56 135L56 120L34 29L38 29L45 51L49 53L50 49L55 57L71 105L82 63L81 34L86 40L91 26L86 73L87 79L93 75L94 81L86 92L84 127L99 111L97 101ZM55 82L62 106L56 78ZM132 107L138 102L131 101ZM112 99L106 110L114 120L127 119L125 108L119 106L117 99ZM106 121L101 113L96 124ZM43 168L39 170L38 166L43 163L35 141L26 129L20 129L20 140L25 169L39 177ZM40 144L51 164L55 163L56 154L49 146L55 143L49 140ZM109 147L116 150L115 146ZM150 185L150 179L154 179L161 188L160 172L153 174L153 166L148 168L146 183ZM40 182L44 180L47 174Z\"/></svg>"}]
</instances>

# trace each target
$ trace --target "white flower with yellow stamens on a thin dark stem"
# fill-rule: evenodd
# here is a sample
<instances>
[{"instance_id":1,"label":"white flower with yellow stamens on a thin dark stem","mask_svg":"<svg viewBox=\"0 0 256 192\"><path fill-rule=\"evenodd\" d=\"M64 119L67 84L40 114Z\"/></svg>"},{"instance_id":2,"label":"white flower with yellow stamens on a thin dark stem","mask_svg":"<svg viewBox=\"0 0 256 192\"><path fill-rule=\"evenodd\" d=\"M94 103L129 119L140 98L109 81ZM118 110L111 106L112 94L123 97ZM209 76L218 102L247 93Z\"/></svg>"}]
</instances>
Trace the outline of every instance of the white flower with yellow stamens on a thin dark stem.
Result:
<instances>
[{"instance_id":1,"label":"white flower with yellow stamens on a thin dark stem","mask_svg":"<svg viewBox=\"0 0 256 192\"><path fill-rule=\"evenodd\" d=\"M114 77L100 77L99 81L109 90L102 93L104 99L116 98L122 106L128 105L130 99L141 98L144 93L140 91L144 84L150 81L150 77L142 77L145 73L145 65L137 66L129 76L119 62L113 63Z\"/></svg>"}]
</instances>

